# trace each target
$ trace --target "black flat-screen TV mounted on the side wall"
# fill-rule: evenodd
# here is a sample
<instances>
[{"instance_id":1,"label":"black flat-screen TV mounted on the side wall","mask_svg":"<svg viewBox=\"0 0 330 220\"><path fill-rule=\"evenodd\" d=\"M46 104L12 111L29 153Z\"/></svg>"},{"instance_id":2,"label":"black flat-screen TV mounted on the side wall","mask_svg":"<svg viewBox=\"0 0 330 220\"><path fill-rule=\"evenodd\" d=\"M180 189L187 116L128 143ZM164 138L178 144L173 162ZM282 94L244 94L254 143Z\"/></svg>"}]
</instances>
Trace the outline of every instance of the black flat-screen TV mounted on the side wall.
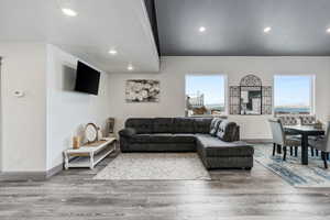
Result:
<instances>
[{"instance_id":1,"label":"black flat-screen TV mounted on the side wall","mask_svg":"<svg viewBox=\"0 0 330 220\"><path fill-rule=\"evenodd\" d=\"M78 62L75 90L86 94L98 95L100 72Z\"/></svg>"}]
</instances>

